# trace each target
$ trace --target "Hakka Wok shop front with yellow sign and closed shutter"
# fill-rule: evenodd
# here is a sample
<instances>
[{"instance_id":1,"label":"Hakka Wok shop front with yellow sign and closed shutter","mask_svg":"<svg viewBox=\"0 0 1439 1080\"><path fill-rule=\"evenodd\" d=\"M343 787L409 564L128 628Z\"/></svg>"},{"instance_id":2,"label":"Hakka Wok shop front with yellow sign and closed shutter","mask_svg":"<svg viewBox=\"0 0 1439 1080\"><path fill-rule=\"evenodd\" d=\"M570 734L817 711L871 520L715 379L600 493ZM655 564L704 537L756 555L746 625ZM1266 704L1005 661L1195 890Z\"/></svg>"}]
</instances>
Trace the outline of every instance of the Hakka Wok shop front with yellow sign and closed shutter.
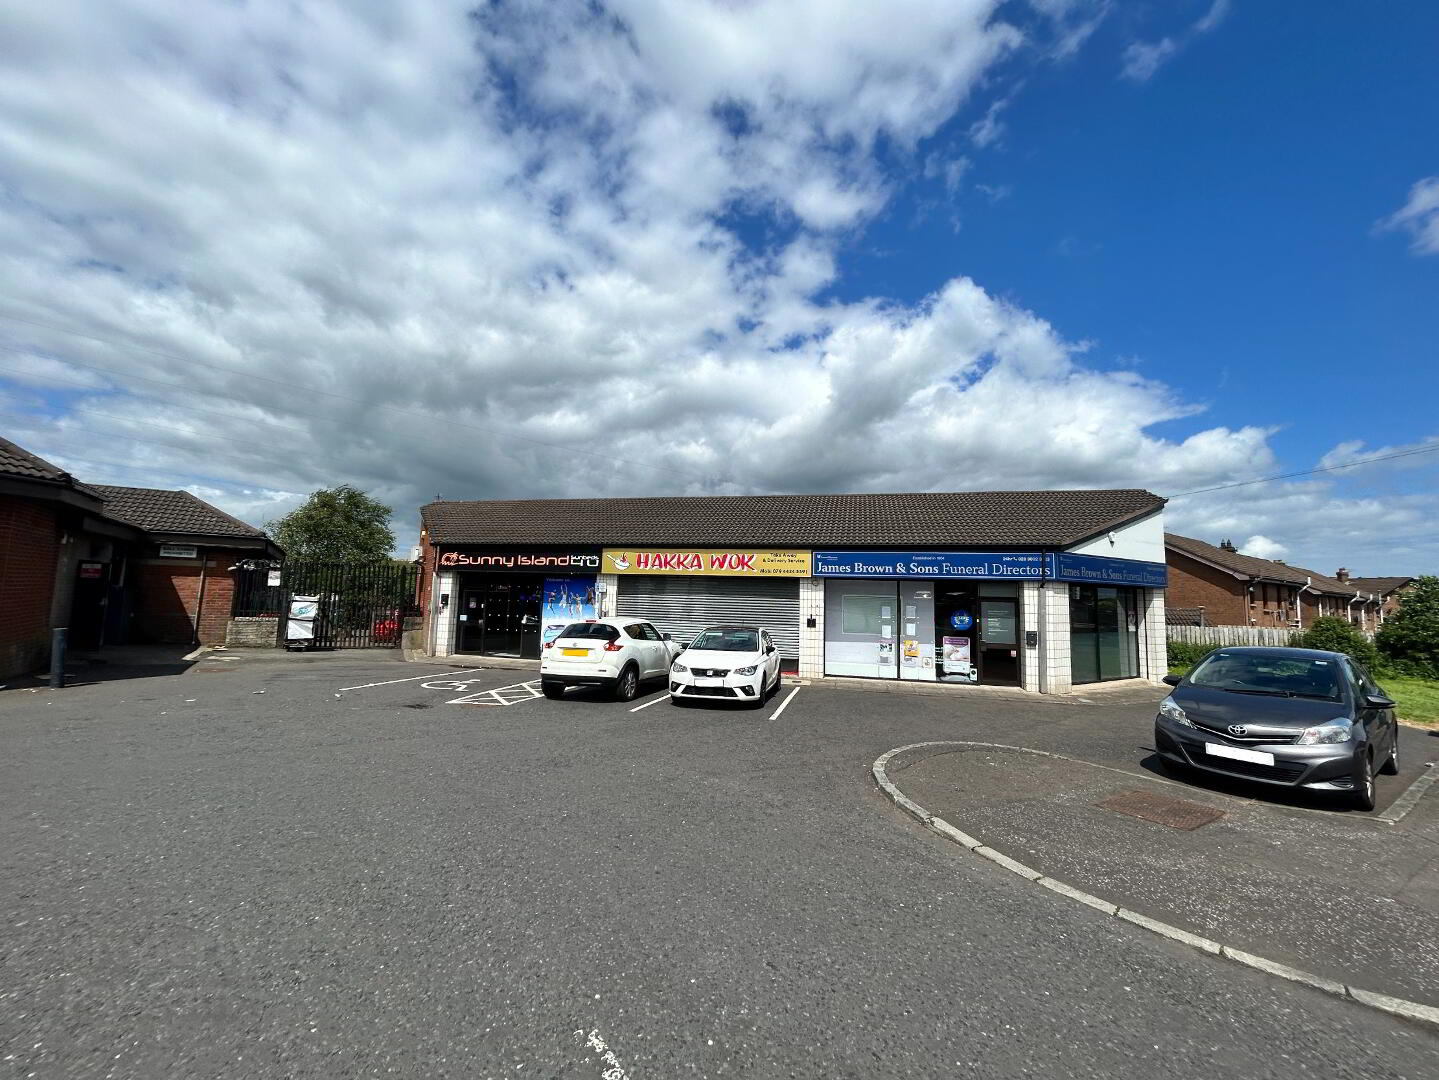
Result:
<instances>
[{"instance_id":1,"label":"Hakka Wok shop front with yellow sign and closed shutter","mask_svg":"<svg viewBox=\"0 0 1439 1080\"><path fill-rule=\"evenodd\" d=\"M757 548L606 548L614 614L652 620L676 641L725 623L761 626L793 670L800 656L800 581L810 552Z\"/></svg>"}]
</instances>

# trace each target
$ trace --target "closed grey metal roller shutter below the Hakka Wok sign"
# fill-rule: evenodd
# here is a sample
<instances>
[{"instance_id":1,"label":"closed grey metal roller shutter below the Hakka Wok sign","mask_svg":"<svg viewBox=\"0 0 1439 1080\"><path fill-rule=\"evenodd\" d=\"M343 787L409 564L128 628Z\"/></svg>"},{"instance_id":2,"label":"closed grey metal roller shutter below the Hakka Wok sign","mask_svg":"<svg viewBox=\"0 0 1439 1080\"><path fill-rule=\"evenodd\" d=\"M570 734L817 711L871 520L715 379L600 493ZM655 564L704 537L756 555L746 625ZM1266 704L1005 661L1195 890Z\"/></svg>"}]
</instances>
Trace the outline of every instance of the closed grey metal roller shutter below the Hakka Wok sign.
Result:
<instances>
[{"instance_id":1,"label":"closed grey metal roller shutter below the Hakka Wok sign","mask_svg":"<svg viewBox=\"0 0 1439 1080\"><path fill-rule=\"evenodd\" d=\"M686 644L708 626L758 623L783 659L800 657L800 582L794 578L622 575L614 611L648 618Z\"/></svg>"}]
</instances>

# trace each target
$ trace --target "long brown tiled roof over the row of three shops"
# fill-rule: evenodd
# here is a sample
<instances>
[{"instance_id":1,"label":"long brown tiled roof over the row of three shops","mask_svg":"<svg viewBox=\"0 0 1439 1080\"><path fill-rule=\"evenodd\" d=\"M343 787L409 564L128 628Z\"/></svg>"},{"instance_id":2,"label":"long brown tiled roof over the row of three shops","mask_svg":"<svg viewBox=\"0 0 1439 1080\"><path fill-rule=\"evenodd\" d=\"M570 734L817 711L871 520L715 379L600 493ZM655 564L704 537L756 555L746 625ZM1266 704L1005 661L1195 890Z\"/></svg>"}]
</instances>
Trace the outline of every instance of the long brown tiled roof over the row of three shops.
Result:
<instances>
[{"instance_id":1,"label":"long brown tiled roof over the row of three shops","mask_svg":"<svg viewBox=\"0 0 1439 1080\"><path fill-rule=\"evenodd\" d=\"M1145 490L432 502L436 544L1065 546L1158 511Z\"/></svg>"}]
</instances>

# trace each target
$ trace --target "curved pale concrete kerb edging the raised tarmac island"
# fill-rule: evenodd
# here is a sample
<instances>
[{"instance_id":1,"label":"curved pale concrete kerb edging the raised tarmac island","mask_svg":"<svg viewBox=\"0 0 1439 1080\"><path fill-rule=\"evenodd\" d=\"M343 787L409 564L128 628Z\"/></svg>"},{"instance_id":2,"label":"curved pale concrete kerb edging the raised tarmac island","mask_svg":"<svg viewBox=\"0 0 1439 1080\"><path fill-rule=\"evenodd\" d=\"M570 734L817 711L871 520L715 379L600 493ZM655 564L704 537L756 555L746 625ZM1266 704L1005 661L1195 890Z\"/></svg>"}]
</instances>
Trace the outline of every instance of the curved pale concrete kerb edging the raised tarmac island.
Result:
<instances>
[{"instance_id":1,"label":"curved pale concrete kerb edging the raised tarmac island","mask_svg":"<svg viewBox=\"0 0 1439 1080\"><path fill-rule=\"evenodd\" d=\"M1345 998L1348 1001L1356 1001L1361 1005L1368 1005L1370 1008L1380 1010L1383 1012L1390 1012L1396 1017L1403 1017L1404 1020L1415 1020L1425 1024L1439 1025L1439 1008L1433 1005L1425 1005L1417 1001L1406 1001L1404 998L1393 998L1387 994L1376 994L1374 991L1361 989L1358 987L1350 987L1335 979L1327 979L1322 975L1315 975L1299 968L1292 968L1288 964L1279 964L1278 961L1271 961L1266 956L1256 956L1252 952L1245 952L1243 949L1236 949L1232 945L1223 945L1222 942L1210 941L1209 938L1202 938L1197 933L1190 933L1189 930L1174 926L1171 923L1163 922L1160 919L1151 919L1147 915L1140 915L1138 912L1131 912L1118 905L1109 903L1098 896L1084 892L1082 889L1075 889L1072 884L1061 882L1053 877L1046 877L1040 874L1033 867L1025 866L1023 863L1010 859L1009 856L987 847L981 841L964 833L941 817L931 814L928 810L921 807L912 798L907 797L894 781L889 779L889 762L894 761L901 754L908 754L911 751L930 751L928 754L921 754L918 759L931 756L932 754L945 754L953 749L1006 749L1019 751L1023 754L1038 754L1045 758L1061 758L1063 761L1071 761L1062 754L1049 754L1046 751L1035 751L1027 746L1009 746L999 742L963 742L957 739L944 742L911 742L907 746L896 746L892 751L881 754L871 769L875 778L875 784L879 790L894 802L896 807L908 813L911 817L917 818L921 824L940 836L953 840L966 850L973 851L981 859L987 859L996 866L1002 866L1006 870L1019 874L1026 882L1033 882L1035 884L1048 889L1052 893L1065 896L1071 900L1078 900L1079 903L1094 907L1108 916L1122 919L1134 926L1140 926L1151 933L1168 938L1170 941L1180 942L1193 949L1199 949L1210 956L1223 956L1225 959L1233 961L1235 964L1243 964L1255 971L1262 971L1268 975L1275 975L1291 982L1299 982L1305 987L1322 991L1325 994L1333 994L1338 998ZM1086 764L1086 762L1081 762Z\"/></svg>"}]
</instances>

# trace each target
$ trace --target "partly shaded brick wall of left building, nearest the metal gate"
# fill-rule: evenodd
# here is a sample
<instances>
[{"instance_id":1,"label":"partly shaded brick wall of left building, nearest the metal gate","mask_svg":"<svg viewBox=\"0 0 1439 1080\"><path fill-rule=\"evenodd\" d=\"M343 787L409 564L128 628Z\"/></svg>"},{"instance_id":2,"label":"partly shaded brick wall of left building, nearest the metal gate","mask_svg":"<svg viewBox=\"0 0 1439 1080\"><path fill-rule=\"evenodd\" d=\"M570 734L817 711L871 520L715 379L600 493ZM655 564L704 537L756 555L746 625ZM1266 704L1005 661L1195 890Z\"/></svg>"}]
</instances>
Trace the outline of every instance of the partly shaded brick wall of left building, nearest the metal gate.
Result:
<instances>
[{"instance_id":1,"label":"partly shaded brick wall of left building, nearest the metal gate","mask_svg":"<svg viewBox=\"0 0 1439 1080\"><path fill-rule=\"evenodd\" d=\"M224 644L235 603L239 559L253 552L201 548L204 608L200 644ZM196 639L194 614L200 603L201 559L135 558L130 562L130 640L189 644Z\"/></svg>"}]
</instances>

